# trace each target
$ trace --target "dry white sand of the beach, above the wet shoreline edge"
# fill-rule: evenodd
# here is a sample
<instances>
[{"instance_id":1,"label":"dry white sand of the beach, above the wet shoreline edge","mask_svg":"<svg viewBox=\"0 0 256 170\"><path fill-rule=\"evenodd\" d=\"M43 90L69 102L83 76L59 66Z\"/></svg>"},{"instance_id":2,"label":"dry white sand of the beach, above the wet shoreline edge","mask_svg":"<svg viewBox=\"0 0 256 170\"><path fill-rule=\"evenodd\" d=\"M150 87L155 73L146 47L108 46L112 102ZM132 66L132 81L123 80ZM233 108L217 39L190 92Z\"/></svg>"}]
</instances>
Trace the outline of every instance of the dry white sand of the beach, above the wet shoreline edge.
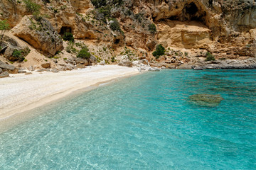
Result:
<instances>
[{"instance_id":1,"label":"dry white sand of the beach, above the wet shoreline edge","mask_svg":"<svg viewBox=\"0 0 256 170\"><path fill-rule=\"evenodd\" d=\"M0 125L13 115L43 106L79 89L138 73L134 68L106 65L59 73L11 74L9 78L0 79Z\"/></svg>"}]
</instances>

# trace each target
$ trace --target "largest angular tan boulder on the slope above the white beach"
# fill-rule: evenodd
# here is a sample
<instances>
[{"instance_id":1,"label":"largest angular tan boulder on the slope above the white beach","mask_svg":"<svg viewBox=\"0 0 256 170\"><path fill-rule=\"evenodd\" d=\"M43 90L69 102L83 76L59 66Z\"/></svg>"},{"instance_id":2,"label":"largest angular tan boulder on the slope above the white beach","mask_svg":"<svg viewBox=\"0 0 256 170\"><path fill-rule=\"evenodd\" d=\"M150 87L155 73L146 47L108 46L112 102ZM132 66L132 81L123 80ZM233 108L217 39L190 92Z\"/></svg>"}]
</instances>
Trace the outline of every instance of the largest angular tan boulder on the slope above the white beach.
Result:
<instances>
[{"instance_id":1,"label":"largest angular tan boulder on the slope above the white beach","mask_svg":"<svg viewBox=\"0 0 256 170\"><path fill-rule=\"evenodd\" d=\"M33 16L24 16L12 29L14 35L28 42L43 55L53 57L63 49L63 40L46 18L36 20Z\"/></svg>"}]
</instances>

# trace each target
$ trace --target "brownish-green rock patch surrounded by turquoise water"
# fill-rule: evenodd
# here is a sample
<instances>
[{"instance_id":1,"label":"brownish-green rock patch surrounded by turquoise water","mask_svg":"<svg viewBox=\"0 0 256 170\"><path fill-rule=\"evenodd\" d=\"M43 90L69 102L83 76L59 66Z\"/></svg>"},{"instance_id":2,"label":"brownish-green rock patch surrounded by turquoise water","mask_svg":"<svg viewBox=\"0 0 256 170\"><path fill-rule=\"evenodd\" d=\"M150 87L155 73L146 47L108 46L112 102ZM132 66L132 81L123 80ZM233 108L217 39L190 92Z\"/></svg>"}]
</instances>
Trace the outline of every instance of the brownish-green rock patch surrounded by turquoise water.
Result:
<instances>
[{"instance_id":1,"label":"brownish-green rock patch surrounded by turquoise water","mask_svg":"<svg viewBox=\"0 0 256 170\"><path fill-rule=\"evenodd\" d=\"M194 94L188 97L191 102L199 106L215 107L220 104L223 98L220 95Z\"/></svg>"}]
</instances>

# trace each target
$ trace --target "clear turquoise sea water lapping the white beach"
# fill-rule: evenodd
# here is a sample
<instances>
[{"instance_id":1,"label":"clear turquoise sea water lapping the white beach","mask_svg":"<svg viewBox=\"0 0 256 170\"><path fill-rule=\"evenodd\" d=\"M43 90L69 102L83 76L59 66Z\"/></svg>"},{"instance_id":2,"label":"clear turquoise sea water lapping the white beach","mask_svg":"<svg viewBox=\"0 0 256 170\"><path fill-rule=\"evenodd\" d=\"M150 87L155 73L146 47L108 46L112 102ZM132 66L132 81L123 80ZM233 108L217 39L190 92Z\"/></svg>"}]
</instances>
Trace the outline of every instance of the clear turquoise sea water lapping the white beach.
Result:
<instances>
[{"instance_id":1,"label":"clear turquoise sea water lapping the white beach","mask_svg":"<svg viewBox=\"0 0 256 170\"><path fill-rule=\"evenodd\" d=\"M0 134L0 169L256 169L255 108L256 70L146 73L34 110Z\"/></svg>"}]
</instances>

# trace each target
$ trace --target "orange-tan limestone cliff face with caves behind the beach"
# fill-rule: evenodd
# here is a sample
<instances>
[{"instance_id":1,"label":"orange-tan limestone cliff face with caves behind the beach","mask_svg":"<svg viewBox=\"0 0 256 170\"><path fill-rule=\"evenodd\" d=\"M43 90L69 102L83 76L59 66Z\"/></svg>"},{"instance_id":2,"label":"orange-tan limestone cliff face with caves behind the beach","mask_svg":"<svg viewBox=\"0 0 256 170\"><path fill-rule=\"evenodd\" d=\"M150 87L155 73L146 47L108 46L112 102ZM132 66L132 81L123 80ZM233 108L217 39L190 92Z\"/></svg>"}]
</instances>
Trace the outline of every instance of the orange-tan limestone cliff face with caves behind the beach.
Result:
<instances>
[{"instance_id":1,"label":"orange-tan limestone cliff face with caves behind the beach","mask_svg":"<svg viewBox=\"0 0 256 170\"><path fill-rule=\"evenodd\" d=\"M151 60L154 47L161 44L188 50L197 57L205 57L206 51L216 58L256 56L254 0L35 2L56 33L71 32L92 47L105 45L116 50L115 55L127 46ZM0 19L7 19L11 27L20 26L23 16L31 14L23 1L0 0L0 4ZM117 19L120 30L112 26L112 18ZM149 29L151 24L156 25L156 31Z\"/></svg>"}]
</instances>

